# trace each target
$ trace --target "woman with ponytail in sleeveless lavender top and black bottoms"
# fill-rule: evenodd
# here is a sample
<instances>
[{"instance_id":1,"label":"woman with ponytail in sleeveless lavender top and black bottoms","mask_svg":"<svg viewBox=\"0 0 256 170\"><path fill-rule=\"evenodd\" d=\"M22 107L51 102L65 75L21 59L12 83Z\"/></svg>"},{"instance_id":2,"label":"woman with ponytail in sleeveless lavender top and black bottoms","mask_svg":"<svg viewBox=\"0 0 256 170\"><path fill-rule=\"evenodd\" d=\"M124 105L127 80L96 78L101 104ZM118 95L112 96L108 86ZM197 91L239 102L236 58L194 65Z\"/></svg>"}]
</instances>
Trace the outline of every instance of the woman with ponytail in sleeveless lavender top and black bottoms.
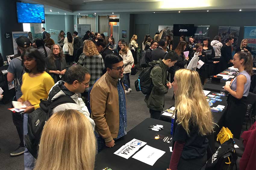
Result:
<instances>
[{"instance_id":1,"label":"woman with ponytail in sleeveless lavender top and black bottoms","mask_svg":"<svg viewBox=\"0 0 256 170\"><path fill-rule=\"evenodd\" d=\"M225 125L233 133L234 138L239 139L247 110L247 96L249 94L251 76L253 75L251 53L236 53L232 63L235 68L238 68L239 74L230 85L224 86L224 90L231 94L229 95L225 115Z\"/></svg>"}]
</instances>

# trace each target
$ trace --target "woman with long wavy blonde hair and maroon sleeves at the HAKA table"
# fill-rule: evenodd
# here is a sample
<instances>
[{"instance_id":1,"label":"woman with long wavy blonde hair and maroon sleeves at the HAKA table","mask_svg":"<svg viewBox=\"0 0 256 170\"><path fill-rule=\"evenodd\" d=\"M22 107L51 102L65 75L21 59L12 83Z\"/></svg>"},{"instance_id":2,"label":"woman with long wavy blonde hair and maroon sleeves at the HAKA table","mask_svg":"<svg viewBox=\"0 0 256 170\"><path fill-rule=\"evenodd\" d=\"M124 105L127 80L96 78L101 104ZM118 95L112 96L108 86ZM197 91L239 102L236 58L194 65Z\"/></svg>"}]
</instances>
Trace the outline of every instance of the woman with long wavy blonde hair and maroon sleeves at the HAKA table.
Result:
<instances>
[{"instance_id":1,"label":"woman with long wavy blonde hair and maroon sleeves at the HAKA table","mask_svg":"<svg viewBox=\"0 0 256 170\"><path fill-rule=\"evenodd\" d=\"M210 106L196 71L177 70L172 85L176 113L169 169L201 169L207 161L206 135L213 132Z\"/></svg>"}]
</instances>

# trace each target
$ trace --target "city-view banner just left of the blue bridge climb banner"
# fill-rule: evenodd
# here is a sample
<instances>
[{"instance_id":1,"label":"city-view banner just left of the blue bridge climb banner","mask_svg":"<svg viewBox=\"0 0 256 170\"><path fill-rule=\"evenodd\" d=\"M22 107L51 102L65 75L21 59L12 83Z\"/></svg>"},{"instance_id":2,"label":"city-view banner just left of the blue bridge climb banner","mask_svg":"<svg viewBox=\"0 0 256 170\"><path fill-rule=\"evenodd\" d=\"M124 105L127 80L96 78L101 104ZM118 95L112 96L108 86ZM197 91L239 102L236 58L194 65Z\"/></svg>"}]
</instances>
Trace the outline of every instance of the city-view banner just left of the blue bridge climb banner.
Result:
<instances>
[{"instance_id":1,"label":"city-view banner just left of the blue bridge climb banner","mask_svg":"<svg viewBox=\"0 0 256 170\"><path fill-rule=\"evenodd\" d=\"M232 35L234 37L234 43L232 46L233 47L232 48L232 56L235 55L236 48L240 46L240 44L238 44L239 31L240 31L240 27L219 26L218 35L220 36L221 42L223 44L225 44L227 42L227 38L229 36Z\"/></svg>"}]
</instances>

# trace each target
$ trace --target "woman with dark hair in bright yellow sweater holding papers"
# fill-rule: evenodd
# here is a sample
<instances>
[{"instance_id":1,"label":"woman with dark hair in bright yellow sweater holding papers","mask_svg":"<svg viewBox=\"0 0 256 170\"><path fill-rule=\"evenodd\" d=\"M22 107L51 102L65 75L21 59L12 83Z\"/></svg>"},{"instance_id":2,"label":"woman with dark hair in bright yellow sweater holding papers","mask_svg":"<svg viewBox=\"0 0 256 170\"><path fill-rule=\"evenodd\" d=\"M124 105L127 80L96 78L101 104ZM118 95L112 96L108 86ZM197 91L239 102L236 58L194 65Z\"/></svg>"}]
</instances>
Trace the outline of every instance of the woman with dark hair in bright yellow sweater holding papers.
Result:
<instances>
[{"instance_id":1,"label":"woman with dark hair in bright yellow sweater holding papers","mask_svg":"<svg viewBox=\"0 0 256 170\"><path fill-rule=\"evenodd\" d=\"M31 103L31 106L24 108L23 115L23 135L27 135L28 114L39 108L40 99L48 98L54 80L52 76L45 72L45 60L38 50L28 49L21 55L21 58L23 60L22 65L27 73L22 76L22 96L18 101L29 101ZM27 151L27 148L24 151L24 167L28 170L34 168L34 158Z\"/></svg>"}]
</instances>

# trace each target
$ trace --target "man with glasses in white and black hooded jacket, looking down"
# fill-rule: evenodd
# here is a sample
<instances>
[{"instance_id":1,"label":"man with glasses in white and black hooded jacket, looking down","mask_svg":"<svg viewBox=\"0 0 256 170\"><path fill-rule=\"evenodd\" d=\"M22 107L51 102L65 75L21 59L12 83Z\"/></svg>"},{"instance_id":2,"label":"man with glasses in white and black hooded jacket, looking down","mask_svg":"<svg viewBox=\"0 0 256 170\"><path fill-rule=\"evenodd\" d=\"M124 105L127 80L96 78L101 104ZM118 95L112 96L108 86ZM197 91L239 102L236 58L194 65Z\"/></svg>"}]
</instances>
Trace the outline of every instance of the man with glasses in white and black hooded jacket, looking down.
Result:
<instances>
[{"instance_id":1,"label":"man with glasses in white and black hooded jacket, looking down","mask_svg":"<svg viewBox=\"0 0 256 170\"><path fill-rule=\"evenodd\" d=\"M90 82L89 71L81 65L72 65L65 73L65 81L58 81L50 90L48 100L52 101L61 96L70 96L75 103L64 103L52 109L52 113L66 109L75 109L83 113L92 124L94 129L95 123L90 118L90 113L83 102L82 98L78 97L78 93L83 93L89 87Z\"/></svg>"}]
</instances>

